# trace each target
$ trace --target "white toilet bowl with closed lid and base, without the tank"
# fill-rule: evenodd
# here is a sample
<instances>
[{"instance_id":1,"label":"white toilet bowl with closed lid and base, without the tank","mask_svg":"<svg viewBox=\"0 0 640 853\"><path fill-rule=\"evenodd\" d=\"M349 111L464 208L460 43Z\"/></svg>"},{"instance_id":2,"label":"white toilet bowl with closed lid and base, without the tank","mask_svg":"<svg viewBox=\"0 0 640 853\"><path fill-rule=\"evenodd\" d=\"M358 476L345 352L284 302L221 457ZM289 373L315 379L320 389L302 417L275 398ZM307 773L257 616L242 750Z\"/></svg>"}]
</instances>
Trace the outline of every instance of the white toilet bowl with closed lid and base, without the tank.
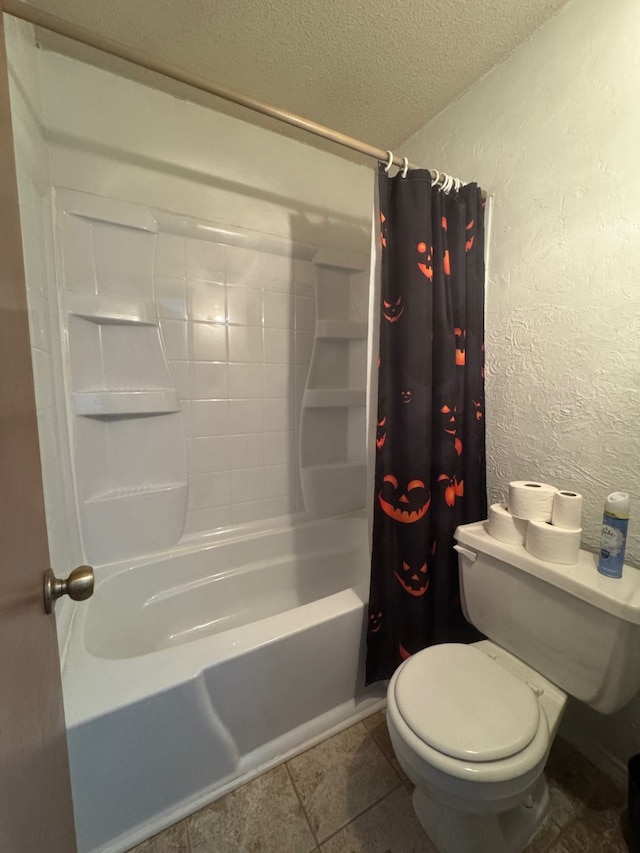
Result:
<instances>
[{"instance_id":1,"label":"white toilet bowl with closed lid and base, without the tank","mask_svg":"<svg viewBox=\"0 0 640 853\"><path fill-rule=\"evenodd\" d=\"M566 694L494 643L431 646L394 673L387 724L440 853L512 853L544 819Z\"/></svg>"}]
</instances>

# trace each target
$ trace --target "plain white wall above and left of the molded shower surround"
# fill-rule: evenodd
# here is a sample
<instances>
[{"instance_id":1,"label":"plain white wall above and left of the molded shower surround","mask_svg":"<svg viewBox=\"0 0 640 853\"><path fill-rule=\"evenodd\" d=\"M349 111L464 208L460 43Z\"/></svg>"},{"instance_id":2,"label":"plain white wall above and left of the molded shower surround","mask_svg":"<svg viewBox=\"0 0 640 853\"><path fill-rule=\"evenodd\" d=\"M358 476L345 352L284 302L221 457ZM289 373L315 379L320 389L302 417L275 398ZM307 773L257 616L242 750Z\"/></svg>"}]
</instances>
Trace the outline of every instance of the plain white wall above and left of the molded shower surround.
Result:
<instances>
[{"instance_id":1,"label":"plain white wall above and left of the molded shower surround","mask_svg":"<svg viewBox=\"0 0 640 853\"><path fill-rule=\"evenodd\" d=\"M54 406L53 398L54 389L59 399L64 396L64 377L55 358L62 342L52 280L51 187L154 210L179 210L201 224L224 221L232 230L269 232L287 245L324 244L365 256L373 187L366 168L38 50L32 28L20 21L8 18L7 33L49 547L53 566L65 574L86 562L86 554L77 525L72 468L64 452L66 412ZM350 192L336 196L336 185L349 186ZM159 268L163 261L170 262L162 252L158 260ZM297 276L309 293L308 259L304 264L305 269L296 265L292 280ZM171 296L160 293L162 286L158 290L160 314L165 315L160 319L170 321ZM176 386L184 391L189 371L184 363L176 361L174 366ZM202 384L202 371L193 378ZM300 383L298 377L298 388ZM187 403L187 419L189 409ZM241 444L243 436L237 439ZM280 464L276 460L281 448L282 442L280 449L265 446L274 466ZM236 458L239 455L240 448ZM192 454L192 474L196 480L206 479L211 472L202 470L202 455L197 457ZM295 495L291 497L295 501ZM282 502L280 496L275 500ZM190 507L187 530L214 525L214 513L215 507ZM209 519L202 517L207 515ZM72 609L66 600L57 607L61 652Z\"/></svg>"}]
</instances>

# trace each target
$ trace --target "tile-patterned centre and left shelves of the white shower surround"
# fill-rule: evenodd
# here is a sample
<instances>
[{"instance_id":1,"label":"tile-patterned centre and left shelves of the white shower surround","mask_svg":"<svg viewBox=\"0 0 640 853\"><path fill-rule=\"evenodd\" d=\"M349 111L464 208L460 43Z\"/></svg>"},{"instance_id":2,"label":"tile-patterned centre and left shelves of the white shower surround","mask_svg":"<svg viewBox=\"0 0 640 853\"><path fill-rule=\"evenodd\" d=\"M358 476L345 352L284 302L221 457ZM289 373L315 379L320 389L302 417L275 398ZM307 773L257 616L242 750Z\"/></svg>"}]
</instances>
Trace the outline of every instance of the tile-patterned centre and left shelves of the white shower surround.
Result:
<instances>
[{"instance_id":1,"label":"tile-patterned centre and left shelves of the white shower surround","mask_svg":"<svg viewBox=\"0 0 640 853\"><path fill-rule=\"evenodd\" d=\"M69 190L56 211L88 560L303 512L315 249Z\"/></svg>"}]
</instances>

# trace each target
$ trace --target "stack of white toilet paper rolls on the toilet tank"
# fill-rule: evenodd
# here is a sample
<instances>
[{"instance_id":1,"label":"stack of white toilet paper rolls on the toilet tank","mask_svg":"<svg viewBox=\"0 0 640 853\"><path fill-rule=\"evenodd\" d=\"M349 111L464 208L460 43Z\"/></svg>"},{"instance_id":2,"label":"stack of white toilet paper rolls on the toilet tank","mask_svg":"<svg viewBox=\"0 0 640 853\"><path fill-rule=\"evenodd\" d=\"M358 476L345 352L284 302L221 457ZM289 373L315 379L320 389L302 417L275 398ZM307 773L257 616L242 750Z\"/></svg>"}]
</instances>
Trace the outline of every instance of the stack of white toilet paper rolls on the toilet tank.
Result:
<instances>
[{"instance_id":1,"label":"stack of white toilet paper rolls on the toilet tank","mask_svg":"<svg viewBox=\"0 0 640 853\"><path fill-rule=\"evenodd\" d=\"M487 532L501 542L523 545L548 563L578 562L582 495L535 480L509 483L507 504L489 507Z\"/></svg>"}]
</instances>

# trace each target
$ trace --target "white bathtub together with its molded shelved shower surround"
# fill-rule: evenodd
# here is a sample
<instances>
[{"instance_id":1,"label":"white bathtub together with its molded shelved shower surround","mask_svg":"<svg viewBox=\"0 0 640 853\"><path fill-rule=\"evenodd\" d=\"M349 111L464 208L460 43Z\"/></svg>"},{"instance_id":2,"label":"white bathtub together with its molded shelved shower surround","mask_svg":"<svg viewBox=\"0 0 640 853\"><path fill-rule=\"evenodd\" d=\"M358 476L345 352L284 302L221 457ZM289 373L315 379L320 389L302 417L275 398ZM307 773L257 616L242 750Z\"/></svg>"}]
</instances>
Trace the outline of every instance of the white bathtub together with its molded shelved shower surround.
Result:
<instances>
[{"instance_id":1,"label":"white bathtub together with its molded shelved shower surround","mask_svg":"<svg viewBox=\"0 0 640 853\"><path fill-rule=\"evenodd\" d=\"M97 578L63 668L76 828L80 853L119 853L381 702L362 665L368 259L61 188L55 227ZM216 455L227 435L251 458Z\"/></svg>"}]
</instances>

